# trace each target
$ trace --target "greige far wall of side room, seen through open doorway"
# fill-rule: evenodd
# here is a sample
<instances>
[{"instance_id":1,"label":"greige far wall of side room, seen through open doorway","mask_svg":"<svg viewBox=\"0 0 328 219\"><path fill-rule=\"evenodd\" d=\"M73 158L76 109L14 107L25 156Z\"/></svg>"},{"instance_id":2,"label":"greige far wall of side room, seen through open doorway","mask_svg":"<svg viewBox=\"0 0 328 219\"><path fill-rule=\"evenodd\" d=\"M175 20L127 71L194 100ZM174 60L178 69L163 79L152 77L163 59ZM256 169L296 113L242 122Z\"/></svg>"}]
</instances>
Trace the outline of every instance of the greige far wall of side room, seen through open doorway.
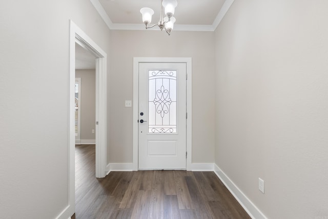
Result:
<instances>
[{"instance_id":1,"label":"greige far wall of side room, seen through open doorway","mask_svg":"<svg viewBox=\"0 0 328 219\"><path fill-rule=\"evenodd\" d=\"M75 77L81 78L81 107L80 107L80 139L96 139L96 71L95 70L75 70Z\"/></svg>"}]
</instances>

